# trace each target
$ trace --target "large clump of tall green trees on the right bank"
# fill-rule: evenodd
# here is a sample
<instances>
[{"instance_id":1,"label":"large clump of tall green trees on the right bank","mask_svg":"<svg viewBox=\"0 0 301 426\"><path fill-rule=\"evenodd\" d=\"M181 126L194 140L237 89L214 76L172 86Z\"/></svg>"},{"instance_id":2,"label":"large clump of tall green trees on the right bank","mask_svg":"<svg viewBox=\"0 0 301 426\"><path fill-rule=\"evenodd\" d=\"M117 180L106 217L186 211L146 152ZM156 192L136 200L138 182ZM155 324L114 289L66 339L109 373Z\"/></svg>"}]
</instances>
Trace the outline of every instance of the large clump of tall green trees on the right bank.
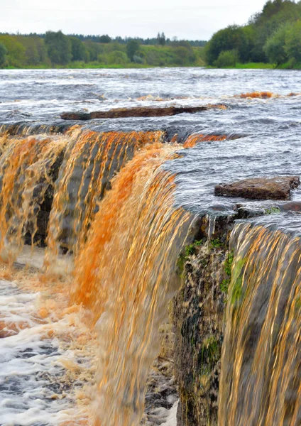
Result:
<instances>
[{"instance_id":1,"label":"large clump of tall green trees on the right bank","mask_svg":"<svg viewBox=\"0 0 301 426\"><path fill-rule=\"evenodd\" d=\"M301 65L301 1L269 0L245 26L217 31L205 47L205 59L216 67L237 62Z\"/></svg>"}]
</instances>

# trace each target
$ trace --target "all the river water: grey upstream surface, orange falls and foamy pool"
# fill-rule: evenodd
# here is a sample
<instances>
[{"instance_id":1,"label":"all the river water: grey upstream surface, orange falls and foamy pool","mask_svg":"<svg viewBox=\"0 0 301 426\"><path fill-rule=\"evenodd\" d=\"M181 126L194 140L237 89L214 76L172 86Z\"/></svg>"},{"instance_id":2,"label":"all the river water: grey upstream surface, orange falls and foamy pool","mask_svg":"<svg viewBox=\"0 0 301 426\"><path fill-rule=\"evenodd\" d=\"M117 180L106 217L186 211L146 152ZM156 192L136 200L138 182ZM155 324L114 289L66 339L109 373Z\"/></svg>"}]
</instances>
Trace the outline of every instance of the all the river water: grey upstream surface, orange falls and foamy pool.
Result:
<instances>
[{"instance_id":1,"label":"all the river water: grey upstream surface, orange falls and foamy pool","mask_svg":"<svg viewBox=\"0 0 301 426\"><path fill-rule=\"evenodd\" d=\"M0 90L0 425L138 425L177 258L243 201L214 185L299 175L301 74L9 70ZM208 109L60 119L146 105ZM220 426L300 424L300 213L277 204L233 231Z\"/></svg>"}]
</instances>

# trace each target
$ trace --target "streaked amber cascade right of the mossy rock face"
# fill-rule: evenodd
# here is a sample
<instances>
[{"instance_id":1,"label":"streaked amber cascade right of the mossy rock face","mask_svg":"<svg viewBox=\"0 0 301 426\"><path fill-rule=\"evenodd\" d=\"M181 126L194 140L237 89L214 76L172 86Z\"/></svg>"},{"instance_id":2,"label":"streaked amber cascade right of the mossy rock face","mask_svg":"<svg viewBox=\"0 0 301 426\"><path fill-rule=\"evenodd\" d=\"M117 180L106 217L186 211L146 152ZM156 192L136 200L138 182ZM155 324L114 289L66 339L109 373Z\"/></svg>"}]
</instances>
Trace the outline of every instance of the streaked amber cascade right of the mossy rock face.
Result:
<instances>
[{"instance_id":1,"label":"streaked amber cascade right of the mossy rock face","mask_svg":"<svg viewBox=\"0 0 301 426\"><path fill-rule=\"evenodd\" d=\"M300 238L239 224L231 249L219 426L300 425Z\"/></svg>"}]
</instances>

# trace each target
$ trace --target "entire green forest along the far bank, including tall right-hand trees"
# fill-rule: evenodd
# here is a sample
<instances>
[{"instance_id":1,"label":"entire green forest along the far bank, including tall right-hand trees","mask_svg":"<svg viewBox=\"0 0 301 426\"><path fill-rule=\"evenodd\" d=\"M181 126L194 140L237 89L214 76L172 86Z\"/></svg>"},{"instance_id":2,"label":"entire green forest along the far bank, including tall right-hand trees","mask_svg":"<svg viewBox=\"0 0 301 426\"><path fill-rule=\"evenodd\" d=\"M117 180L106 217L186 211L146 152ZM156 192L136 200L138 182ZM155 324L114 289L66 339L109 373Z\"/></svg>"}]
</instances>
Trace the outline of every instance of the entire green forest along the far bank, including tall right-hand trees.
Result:
<instances>
[{"instance_id":1,"label":"entire green forest along the far bank, including tall right-hand trees","mask_svg":"<svg viewBox=\"0 0 301 426\"><path fill-rule=\"evenodd\" d=\"M200 23L200 26L202 23ZM101 67L301 68L301 1L269 0L244 26L209 42L109 35L0 33L1 68Z\"/></svg>"}]
</instances>

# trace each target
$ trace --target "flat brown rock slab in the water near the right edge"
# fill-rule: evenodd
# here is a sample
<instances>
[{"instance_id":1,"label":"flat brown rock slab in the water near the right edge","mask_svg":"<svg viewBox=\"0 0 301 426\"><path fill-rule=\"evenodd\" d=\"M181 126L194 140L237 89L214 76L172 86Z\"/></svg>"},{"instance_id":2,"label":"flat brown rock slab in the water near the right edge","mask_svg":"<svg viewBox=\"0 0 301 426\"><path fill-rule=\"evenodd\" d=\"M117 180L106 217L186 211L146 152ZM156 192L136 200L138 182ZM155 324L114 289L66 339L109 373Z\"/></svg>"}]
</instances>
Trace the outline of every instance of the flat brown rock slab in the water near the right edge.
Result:
<instances>
[{"instance_id":1,"label":"flat brown rock slab in the water near the right edge","mask_svg":"<svg viewBox=\"0 0 301 426\"><path fill-rule=\"evenodd\" d=\"M299 176L253 178L220 183L214 188L214 195L242 197L251 200L289 200L292 190L299 185Z\"/></svg>"}]
</instances>

